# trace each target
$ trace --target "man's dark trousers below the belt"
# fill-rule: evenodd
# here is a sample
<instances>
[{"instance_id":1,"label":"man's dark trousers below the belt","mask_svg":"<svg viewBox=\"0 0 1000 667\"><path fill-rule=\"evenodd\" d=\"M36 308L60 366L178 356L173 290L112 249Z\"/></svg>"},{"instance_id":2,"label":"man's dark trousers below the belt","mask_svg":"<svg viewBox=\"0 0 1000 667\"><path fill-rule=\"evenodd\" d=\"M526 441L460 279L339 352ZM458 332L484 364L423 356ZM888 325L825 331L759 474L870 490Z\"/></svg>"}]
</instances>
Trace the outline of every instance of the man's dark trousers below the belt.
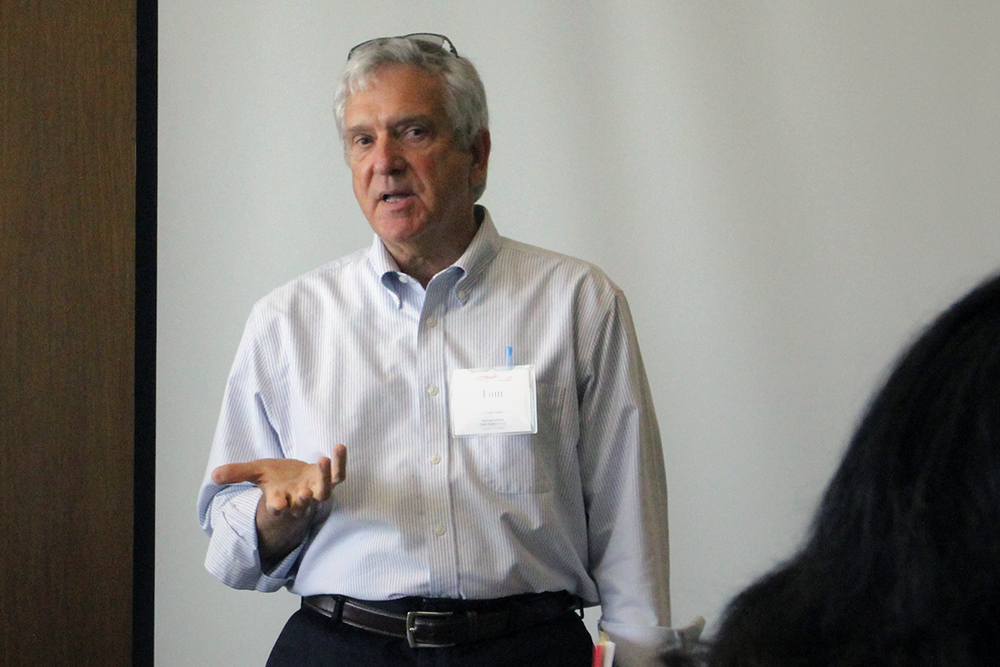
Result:
<instances>
[{"instance_id":1,"label":"man's dark trousers below the belt","mask_svg":"<svg viewBox=\"0 0 1000 667\"><path fill-rule=\"evenodd\" d=\"M288 619L267 667L591 667L593 643L574 612L512 635L444 648L410 648L309 609Z\"/></svg>"}]
</instances>

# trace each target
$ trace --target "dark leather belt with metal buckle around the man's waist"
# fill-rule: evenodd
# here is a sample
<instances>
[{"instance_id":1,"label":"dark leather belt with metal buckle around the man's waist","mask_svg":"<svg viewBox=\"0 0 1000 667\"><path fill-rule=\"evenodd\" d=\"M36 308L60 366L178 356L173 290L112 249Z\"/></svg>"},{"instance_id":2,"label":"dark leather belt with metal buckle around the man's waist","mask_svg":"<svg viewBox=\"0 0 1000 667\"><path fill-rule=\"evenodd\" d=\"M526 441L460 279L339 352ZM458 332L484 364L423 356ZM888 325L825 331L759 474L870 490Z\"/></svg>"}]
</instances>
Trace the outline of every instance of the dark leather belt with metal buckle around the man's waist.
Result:
<instances>
[{"instance_id":1,"label":"dark leather belt with metal buckle around the man's waist","mask_svg":"<svg viewBox=\"0 0 1000 667\"><path fill-rule=\"evenodd\" d=\"M396 600L367 602L341 595L304 597L302 607L362 630L405 639L414 648L501 637L580 609L579 598L565 591L482 601L406 600L432 610L403 611Z\"/></svg>"}]
</instances>

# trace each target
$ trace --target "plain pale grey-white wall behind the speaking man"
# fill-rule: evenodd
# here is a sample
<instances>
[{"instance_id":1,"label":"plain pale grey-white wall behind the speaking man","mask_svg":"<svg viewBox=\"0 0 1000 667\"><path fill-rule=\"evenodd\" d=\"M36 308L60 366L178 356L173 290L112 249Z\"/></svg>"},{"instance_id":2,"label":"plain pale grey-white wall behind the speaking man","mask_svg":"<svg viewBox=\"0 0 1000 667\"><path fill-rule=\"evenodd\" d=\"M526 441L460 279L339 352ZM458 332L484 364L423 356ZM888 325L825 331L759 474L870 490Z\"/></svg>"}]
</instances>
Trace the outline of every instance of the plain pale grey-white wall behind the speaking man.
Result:
<instances>
[{"instance_id":1,"label":"plain pale grey-white wall behind the speaking man","mask_svg":"<svg viewBox=\"0 0 1000 667\"><path fill-rule=\"evenodd\" d=\"M477 64L501 233L629 296L664 441L675 624L787 556L917 328L1000 267L1000 4L160 3L156 664L263 664L295 598L202 567L194 502L254 301L366 245L347 50Z\"/></svg>"}]
</instances>

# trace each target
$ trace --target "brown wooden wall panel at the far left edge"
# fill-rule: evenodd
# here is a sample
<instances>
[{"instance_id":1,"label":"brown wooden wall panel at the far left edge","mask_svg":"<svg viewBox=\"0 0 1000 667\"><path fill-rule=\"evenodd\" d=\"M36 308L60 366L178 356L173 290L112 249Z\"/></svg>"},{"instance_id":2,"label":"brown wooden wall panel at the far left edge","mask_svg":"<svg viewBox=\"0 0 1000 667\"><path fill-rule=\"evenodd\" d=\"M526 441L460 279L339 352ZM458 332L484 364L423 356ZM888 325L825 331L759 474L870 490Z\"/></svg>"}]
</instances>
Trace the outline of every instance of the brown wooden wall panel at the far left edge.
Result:
<instances>
[{"instance_id":1,"label":"brown wooden wall panel at the far left edge","mask_svg":"<svg viewBox=\"0 0 1000 667\"><path fill-rule=\"evenodd\" d=\"M0 664L132 660L135 4L0 2Z\"/></svg>"}]
</instances>

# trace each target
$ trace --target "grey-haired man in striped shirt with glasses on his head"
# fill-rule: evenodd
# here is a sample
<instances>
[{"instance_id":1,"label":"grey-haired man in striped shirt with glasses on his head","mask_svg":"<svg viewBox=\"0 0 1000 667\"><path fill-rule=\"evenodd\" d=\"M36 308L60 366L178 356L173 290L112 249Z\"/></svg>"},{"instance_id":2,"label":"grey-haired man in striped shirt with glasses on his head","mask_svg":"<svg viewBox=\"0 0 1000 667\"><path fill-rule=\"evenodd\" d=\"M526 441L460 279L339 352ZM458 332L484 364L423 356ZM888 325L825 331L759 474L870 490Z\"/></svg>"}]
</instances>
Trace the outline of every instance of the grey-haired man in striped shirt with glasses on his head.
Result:
<instances>
[{"instance_id":1,"label":"grey-haired man in striped shirt with glasses on his head","mask_svg":"<svg viewBox=\"0 0 1000 667\"><path fill-rule=\"evenodd\" d=\"M676 639L666 482L624 295L476 204L486 95L444 36L352 49L336 118L375 238L254 307L206 567L302 596L272 667L584 667L596 604L616 664L653 664Z\"/></svg>"}]
</instances>

